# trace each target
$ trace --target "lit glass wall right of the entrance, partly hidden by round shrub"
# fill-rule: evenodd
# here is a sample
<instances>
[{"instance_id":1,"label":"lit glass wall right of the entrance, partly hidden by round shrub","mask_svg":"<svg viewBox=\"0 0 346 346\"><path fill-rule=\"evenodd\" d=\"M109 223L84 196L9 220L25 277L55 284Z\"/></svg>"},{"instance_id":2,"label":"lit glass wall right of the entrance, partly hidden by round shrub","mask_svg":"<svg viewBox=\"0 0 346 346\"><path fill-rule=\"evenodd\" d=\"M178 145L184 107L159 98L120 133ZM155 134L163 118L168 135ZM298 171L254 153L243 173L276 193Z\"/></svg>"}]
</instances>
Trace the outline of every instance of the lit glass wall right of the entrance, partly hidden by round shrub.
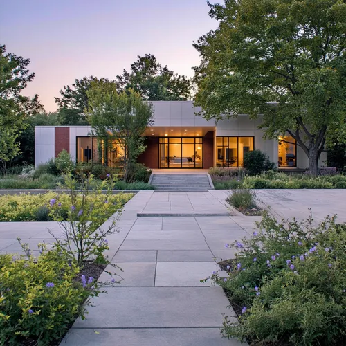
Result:
<instances>
[{"instance_id":1,"label":"lit glass wall right of the entrance, partly hidden by round shrub","mask_svg":"<svg viewBox=\"0 0 346 346\"><path fill-rule=\"evenodd\" d=\"M217 167L243 167L244 154L254 147L254 137L217 137Z\"/></svg>"}]
</instances>

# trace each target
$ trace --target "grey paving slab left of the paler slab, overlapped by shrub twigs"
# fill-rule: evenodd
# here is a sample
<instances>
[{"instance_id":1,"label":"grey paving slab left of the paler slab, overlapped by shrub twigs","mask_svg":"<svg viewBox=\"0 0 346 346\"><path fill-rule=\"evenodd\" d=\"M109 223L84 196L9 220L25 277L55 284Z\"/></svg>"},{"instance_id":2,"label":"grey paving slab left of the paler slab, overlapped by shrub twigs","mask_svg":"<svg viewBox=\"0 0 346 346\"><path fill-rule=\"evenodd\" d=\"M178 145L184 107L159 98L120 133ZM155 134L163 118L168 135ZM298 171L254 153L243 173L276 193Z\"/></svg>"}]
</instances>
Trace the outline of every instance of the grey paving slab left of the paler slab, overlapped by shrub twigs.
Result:
<instances>
[{"instance_id":1,"label":"grey paving slab left of the paler slab, overlapped by shrub twigs","mask_svg":"<svg viewBox=\"0 0 346 346\"><path fill-rule=\"evenodd\" d=\"M118 264L120 268L114 268L108 265L99 278L100 282L109 282L111 275L116 281L120 275L122 281L116 288L120 287L154 287L156 263L151 262L122 262ZM109 275L109 272L111 275Z\"/></svg>"}]
</instances>

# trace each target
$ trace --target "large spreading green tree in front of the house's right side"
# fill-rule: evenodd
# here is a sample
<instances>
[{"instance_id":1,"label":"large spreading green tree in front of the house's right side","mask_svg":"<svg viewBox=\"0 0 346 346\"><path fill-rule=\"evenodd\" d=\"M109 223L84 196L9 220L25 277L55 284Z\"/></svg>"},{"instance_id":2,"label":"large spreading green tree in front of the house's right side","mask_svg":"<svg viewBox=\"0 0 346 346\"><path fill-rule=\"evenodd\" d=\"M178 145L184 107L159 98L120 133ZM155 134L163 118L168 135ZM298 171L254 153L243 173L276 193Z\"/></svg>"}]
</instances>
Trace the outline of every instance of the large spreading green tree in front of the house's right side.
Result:
<instances>
[{"instance_id":1,"label":"large spreading green tree in front of the house's right side","mask_svg":"<svg viewBox=\"0 0 346 346\"><path fill-rule=\"evenodd\" d=\"M329 135L345 140L345 1L208 4L219 27L194 44L203 115L263 114L264 138L288 132L317 174Z\"/></svg>"}]
</instances>

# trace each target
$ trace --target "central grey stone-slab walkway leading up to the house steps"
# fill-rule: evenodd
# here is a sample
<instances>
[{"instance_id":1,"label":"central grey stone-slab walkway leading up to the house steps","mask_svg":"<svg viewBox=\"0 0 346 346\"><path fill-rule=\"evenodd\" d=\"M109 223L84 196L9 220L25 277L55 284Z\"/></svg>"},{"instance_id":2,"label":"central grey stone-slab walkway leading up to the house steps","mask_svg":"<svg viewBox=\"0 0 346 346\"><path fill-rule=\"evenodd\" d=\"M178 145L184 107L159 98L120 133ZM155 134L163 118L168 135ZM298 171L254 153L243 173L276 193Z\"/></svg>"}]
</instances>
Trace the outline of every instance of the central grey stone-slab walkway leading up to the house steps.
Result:
<instances>
[{"instance_id":1,"label":"central grey stone-slab walkway leading up to the house steps","mask_svg":"<svg viewBox=\"0 0 346 346\"><path fill-rule=\"evenodd\" d=\"M182 210L227 211L208 192L141 191L127 203L118 221L122 229L109 239L111 262L124 272L106 269L123 280L93 299L86 320L75 322L62 345L241 345L220 334L222 314L234 316L226 309L224 291L199 280L219 269L215 257L233 257L225 244L250 236L252 221L242 216L137 217L143 211Z\"/></svg>"}]
</instances>

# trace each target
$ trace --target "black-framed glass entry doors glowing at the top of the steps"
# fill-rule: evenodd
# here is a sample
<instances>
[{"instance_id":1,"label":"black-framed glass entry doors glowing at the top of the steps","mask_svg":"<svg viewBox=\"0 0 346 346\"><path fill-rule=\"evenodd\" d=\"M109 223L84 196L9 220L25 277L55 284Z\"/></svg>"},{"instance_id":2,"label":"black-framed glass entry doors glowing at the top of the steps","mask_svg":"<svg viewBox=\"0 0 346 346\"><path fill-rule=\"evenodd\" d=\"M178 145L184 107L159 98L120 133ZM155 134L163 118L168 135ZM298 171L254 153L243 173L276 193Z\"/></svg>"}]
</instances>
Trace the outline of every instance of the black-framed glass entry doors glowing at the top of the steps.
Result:
<instances>
[{"instance_id":1,"label":"black-framed glass entry doors glowing at the top of the steps","mask_svg":"<svg viewBox=\"0 0 346 346\"><path fill-rule=\"evenodd\" d=\"M203 168L203 138L163 137L159 145L160 168Z\"/></svg>"}]
</instances>

